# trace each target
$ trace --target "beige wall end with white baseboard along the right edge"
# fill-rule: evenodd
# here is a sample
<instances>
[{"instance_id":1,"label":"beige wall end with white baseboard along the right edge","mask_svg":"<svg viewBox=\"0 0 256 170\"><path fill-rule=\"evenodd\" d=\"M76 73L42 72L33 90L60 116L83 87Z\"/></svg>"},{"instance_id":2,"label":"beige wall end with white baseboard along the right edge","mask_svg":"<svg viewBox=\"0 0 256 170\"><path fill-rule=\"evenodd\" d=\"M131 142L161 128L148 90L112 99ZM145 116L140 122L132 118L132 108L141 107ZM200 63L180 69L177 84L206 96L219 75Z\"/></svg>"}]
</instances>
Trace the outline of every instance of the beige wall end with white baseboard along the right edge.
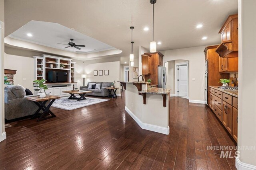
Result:
<instances>
[{"instance_id":1,"label":"beige wall end with white baseboard along the right edge","mask_svg":"<svg viewBox=\"0 0 256 170\"><path fill-rule=\"evenodd\" d=\"M238 23L239 160L256 168L256 150L239 148L256 147L256 1L238 1Z\"/></svg>"}]
</instances>

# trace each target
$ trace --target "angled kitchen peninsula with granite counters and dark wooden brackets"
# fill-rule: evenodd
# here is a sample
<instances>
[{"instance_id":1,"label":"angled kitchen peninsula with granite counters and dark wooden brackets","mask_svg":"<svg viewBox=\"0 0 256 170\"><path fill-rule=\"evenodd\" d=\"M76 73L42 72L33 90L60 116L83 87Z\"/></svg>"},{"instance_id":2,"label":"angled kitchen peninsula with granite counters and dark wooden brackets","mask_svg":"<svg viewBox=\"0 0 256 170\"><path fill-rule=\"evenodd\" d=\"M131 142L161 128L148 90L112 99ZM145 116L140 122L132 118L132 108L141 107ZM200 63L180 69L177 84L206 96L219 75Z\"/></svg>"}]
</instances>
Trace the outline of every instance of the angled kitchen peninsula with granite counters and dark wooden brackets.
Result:
<instances>
[{"instance_id":1,"label":"angled kitchen peninsula with granite counters and dark wooden brackets","mask_svg":"<svg viewBox=\"0 0 256 170\"><path fill-rule=\"evenodd\" d=\"M148 82L125 82L125 110L142 129L169 134L170 90L149 87Z\"/></svg>"}]
</instances>

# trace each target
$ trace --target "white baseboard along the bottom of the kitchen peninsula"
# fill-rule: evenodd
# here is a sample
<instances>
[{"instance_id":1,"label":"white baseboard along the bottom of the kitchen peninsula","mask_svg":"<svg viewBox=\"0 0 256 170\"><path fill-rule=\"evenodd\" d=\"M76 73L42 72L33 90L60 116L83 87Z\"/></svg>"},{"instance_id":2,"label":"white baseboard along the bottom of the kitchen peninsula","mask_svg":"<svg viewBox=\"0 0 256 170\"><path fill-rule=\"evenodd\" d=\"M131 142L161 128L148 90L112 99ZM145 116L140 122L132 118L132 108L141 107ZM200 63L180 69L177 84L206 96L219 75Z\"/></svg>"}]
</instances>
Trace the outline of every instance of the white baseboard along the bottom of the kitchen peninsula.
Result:
<instances>
[{"instance_id":1,"label":"white baseboard along the bottom of the kitchen peninsula","mask_svg":"<svg viewBox=\"0 0 256 170\"><path fill-rule=\"evenodd\" d=\"M170 133L170 128L166 128L166 127L161 127L161 126L156 126L156 125L151 125L148 123L143 123L140 119L138 119L138 117L136 115L134 115L134 113L132 113L132 111L130 111L130 109L128 109L125 106L125 111L127 111L127 113L136 121L136 123L142 128L142 129L146 129L149 131L153 131L153 132L158 132L158 133L163 133L165 135L169 135Z\"/></svg>"}]
</instances>

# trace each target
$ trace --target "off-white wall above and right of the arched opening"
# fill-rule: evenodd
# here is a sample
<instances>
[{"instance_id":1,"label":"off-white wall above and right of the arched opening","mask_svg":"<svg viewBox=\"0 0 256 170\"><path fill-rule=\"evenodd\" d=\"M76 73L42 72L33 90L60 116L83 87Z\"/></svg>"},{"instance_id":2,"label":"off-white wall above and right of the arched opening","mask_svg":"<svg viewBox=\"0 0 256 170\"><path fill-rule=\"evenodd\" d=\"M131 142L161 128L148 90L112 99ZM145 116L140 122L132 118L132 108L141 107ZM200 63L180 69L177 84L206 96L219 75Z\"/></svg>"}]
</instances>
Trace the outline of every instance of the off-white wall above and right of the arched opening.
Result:
<instances>
[{"instance_id":1,"label":"off-white wall above and right of the arched opening","mask_svg":"<svg viewBox=\"0 0 256 170\"><path fill-rule=\"evenodd\" d=\"M161 51L161 53L164 55L163 63L172 60L189 61L190 102L204 102L204 49L205 46L200 46ZM192 81L192 78L196 78L196 81Z\"/></svg>"}]
</instances>

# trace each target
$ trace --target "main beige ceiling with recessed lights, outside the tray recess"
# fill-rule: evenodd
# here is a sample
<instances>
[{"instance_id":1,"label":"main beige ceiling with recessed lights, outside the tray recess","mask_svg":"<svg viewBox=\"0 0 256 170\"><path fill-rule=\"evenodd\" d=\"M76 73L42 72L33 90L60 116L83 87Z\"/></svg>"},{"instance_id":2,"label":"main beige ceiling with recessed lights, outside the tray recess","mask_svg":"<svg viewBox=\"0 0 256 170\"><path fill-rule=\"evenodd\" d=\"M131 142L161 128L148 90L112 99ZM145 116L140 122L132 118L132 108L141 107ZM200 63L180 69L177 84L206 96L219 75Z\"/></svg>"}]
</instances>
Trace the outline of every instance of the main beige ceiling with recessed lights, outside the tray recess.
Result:
<instances>
[{"instance_id":1,"label":"main beige ceiling with recessed lights, outside the tray recess","mask_svg":"<svg viewBox=\"0 0 256 170\"><path fill-rule=\"evenodd\" d=\"M154 5L154 40L162 42L157 45L157 51L218 44L220 27L228 15L237 13L237 0L157 0ZM152 41L150 0L5 1L6 36L32 20L75 28L122 50L121 56L127 61L131 53L130 26L135 27L135 57L138 57L139 45L149 49ZM203 24L203 27L197 29L197 24ZM149 31L143 30L145 26ZM202 40L204 36L208 39Z\"/></svg>"}]
</instances>

